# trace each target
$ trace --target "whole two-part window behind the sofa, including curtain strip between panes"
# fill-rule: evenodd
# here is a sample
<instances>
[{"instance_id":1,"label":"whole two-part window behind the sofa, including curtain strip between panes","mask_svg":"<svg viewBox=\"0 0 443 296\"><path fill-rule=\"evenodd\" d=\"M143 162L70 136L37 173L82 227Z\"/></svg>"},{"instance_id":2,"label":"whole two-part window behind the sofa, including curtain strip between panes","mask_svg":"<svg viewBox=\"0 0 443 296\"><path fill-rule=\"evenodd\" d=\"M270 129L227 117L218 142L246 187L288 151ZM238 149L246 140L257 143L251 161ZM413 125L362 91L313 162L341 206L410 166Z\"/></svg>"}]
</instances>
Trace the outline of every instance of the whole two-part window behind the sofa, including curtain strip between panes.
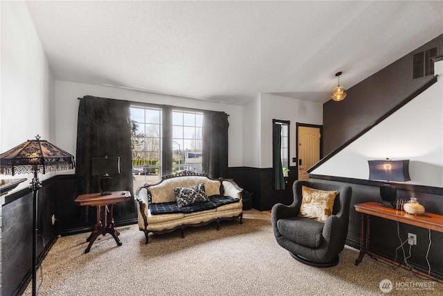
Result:
<instances>
[{"instance_id":1,"label":"whole two-part window behind the sofa, including curtain strip between panes","mask_svg":"<svg viewBox=\"0 0 443 296\"><path fill-rule=\"evenodd\" d=\"M201 172L202 112L141 105L130 110L134 189L162 175Z\"/></svg>"}]
</instances>

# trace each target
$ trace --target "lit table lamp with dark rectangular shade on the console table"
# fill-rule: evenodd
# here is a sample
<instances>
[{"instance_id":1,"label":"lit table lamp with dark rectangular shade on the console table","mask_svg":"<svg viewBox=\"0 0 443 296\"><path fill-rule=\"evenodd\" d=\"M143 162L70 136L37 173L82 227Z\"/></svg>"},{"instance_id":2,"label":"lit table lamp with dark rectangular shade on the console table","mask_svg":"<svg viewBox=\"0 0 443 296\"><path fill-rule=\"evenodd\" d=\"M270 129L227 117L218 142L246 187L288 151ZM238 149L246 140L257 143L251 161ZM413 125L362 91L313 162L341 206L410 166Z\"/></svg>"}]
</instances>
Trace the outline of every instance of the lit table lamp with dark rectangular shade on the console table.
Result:
<instances>
[{"instance_id":1,"label":"lit table lamp with dark rectangular shade on the console table","mask_svg":"<svg viewBox=\"0 0 443 296\"><path fill-rule=\"evenodd\" d=\"M406 182L409 177L409 159L403 160L368 160L369 180ZM380 196L383 200L383 207L395 208L397 189L388 184L380 187Z\"/></svg>"}]
</instances>

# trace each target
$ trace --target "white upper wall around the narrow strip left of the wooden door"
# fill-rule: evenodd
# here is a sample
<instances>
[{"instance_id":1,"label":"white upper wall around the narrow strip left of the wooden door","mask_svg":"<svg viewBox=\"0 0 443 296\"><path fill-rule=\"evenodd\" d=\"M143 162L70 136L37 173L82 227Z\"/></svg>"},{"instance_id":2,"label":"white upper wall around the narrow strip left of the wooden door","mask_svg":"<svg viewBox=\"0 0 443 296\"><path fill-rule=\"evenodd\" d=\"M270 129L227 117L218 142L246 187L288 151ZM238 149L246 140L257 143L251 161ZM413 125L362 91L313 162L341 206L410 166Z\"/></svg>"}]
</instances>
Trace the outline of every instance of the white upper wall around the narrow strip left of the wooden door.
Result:
<instances>
[{"instance_id":1,"label":"white upper wall around the narrow strip left of the wooden door","mask_svg":"<svg viewBox=\"0 0 443 296\"><path fill-rule=\"evenodd\" d=\"M272 120L291 121L289 127L289 165L296 166L296 123L323 124L323 104L300 101L295 98L261 94L261 159L260 168L272 168Z\"/></svg>"}]
</instances>

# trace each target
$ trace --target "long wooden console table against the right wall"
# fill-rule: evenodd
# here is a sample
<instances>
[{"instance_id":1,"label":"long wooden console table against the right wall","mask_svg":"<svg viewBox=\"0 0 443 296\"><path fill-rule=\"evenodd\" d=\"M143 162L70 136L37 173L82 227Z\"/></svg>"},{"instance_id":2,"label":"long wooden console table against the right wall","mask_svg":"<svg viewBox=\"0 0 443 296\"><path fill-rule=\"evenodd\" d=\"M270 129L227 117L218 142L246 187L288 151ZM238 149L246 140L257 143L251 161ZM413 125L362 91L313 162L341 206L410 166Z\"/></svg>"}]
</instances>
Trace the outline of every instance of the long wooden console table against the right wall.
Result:
<instances>
[{"instance_id":1,"label":"long wooden console table against the right wall","mask_svg":"<svg viewBox=\"0 0 443 296\"><path fill-rule=\"evenodd\" d=\"M397 261L392 261L378 254L374 254L369 250L370 216L377 216L388 220L394 220L409 225L415 225L417 227L435 230L436 232L443 232L442 215L432 213L424 213L419 216L411 215L406 213L406 211L381 207L379 202L364 202L362 204L355 204L354 207L356 211L361 213L360 254L359 257L355 260L355 265L359 265L359 263L363 260L363 256L365 256L365 254L368 254L371 257L382 259L394 265L401 266L406 270L410 270L424 277L428 277L430 279L443 283L443 279L438 279L437 277L428 275L427 273L416 270L415 268L410 268L409 266L403 265Z\"/></svg>"}]
</instances>

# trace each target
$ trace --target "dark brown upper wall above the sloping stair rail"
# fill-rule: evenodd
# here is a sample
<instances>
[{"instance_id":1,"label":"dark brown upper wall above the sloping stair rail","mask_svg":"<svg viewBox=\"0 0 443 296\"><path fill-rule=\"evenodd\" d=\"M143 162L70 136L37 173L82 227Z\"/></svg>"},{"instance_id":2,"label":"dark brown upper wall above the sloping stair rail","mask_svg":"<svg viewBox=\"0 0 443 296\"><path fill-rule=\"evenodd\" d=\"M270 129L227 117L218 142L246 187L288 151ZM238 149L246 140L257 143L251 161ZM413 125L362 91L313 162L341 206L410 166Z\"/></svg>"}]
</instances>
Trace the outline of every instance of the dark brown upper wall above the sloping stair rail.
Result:
<instances>
[{"instance_id":1,"label":"dark brown upper wall above the sloping stair rail","mask_svg":"<svg viewBox=\"0 0 443 296\"><path fill-rule=\"evenodd\" d=\"M345 100L323 104L323 155L352 139L431 78L413 80L413 55L433 47L442 51L442 44L443 34L350 87Z\"/></svg>"}]
</instances>

